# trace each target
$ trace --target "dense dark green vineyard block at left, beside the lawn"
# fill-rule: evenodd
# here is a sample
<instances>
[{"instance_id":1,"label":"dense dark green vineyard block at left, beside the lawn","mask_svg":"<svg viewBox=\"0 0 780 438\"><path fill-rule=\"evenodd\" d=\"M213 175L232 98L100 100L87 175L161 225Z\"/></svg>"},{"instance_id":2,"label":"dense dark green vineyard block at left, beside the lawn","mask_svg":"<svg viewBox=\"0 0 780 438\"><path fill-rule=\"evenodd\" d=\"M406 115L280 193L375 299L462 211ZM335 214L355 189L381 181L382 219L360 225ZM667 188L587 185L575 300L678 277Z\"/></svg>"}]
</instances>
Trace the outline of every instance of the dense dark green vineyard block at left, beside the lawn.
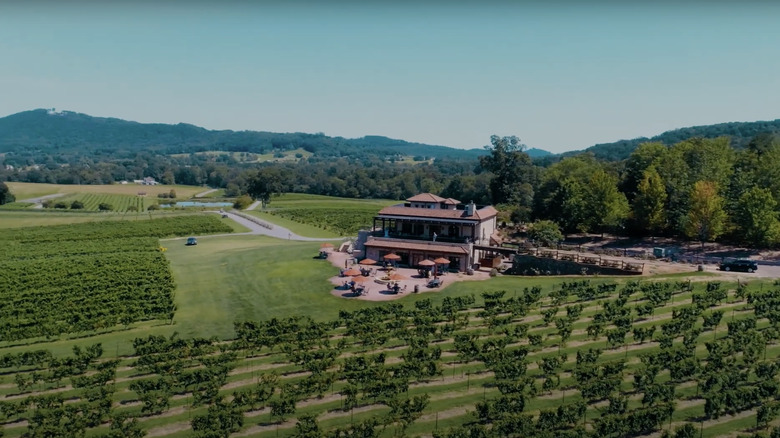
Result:
<instances>
[{"instance_id":1,"label":"dense dark green vineyard block at left, beside the lawn","mask_svg":"<svg viewBox=\"0 0 780 438\"><path fill-rule=\"evenodd\" d=\"M170 320L174 283L157 238L229 231L212 216L1 230L0 342Z\"/></svg>"}]
</instances>

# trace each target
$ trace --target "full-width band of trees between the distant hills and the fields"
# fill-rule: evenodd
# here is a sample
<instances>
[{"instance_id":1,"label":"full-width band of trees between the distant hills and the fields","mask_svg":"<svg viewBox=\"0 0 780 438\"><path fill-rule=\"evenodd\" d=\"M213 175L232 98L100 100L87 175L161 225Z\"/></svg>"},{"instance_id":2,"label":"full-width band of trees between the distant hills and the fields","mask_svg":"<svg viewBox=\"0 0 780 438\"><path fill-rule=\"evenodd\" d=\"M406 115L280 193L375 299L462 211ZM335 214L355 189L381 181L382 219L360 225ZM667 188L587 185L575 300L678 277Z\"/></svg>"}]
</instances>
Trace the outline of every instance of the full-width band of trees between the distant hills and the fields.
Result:
<instances>
[{"instance_id":1,"label":"full-width band of trees between the distant hills and the fields","mask_svg":"<svg viewBox=\"0 0 780 438\"><path fill-rule=\"evenodd\" d=\"M297 162L246 163L231 156L156 155L63 166L0 169L0 180L105 184L152 176L164 184L208 185L228 196L268 202L277 193L405 199L421 192L492 203L507 222L551 220L564 233L612 232L728 240L754 247L780 241L780 140L754 137L735 149L729 137L648 142L622 161L593 154L535 162L516 137L491 137L479 159L395 162L360 153Z\"/></svg>"}]
</instances>

